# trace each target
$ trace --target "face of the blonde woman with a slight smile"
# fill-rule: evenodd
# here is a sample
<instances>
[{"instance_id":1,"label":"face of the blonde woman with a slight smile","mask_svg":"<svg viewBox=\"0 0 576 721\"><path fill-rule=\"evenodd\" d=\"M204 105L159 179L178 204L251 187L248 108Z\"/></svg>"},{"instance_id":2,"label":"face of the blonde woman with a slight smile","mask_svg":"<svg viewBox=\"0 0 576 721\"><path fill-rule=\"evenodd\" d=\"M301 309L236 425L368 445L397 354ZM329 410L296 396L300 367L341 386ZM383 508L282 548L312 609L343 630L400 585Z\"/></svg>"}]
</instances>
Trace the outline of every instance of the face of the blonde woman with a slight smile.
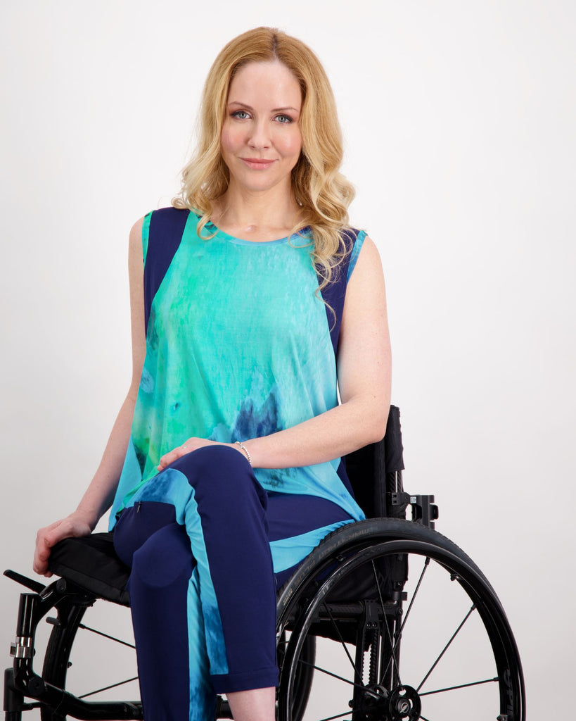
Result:
<instances>
[{"instance_id":1,"label":"face of the blonde woman with a slight smile","mask_svg":"<svg viewBox=\"0 0 576 721\"><path fill-rule=\"evenodd\" d=\"M291 187L290 172L302 150L302 92L278 61L248 63L230 83L220 138L230 185L251 192Z\"/></svg>"}]
</instances>

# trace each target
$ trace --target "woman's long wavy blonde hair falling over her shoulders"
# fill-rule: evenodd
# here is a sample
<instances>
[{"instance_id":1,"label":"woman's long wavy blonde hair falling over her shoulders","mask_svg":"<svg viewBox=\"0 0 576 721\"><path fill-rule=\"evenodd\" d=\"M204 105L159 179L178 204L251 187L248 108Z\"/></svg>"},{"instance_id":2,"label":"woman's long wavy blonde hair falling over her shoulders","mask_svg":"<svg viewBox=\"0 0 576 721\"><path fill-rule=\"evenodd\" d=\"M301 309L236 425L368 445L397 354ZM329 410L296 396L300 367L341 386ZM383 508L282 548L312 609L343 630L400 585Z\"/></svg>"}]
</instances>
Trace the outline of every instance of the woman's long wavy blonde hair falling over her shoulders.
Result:
<instances>
[{"instance_id":1,"label":"woman's long wavy blonde hair falling over her shoulders","mask_svg":"<svg viewBox=\"0 0 576 721\"><path fill-rule=\"evenodd\" d=\"M197 231L202 234L213 201L225 193L230 182L220 152L230 83L247 63L266 61L279 61L289 68L302 90L302 152L292 169L292 193L301 213L292 233L306 227L312 230L312 260L323 288L346 253L341 231L349 227L348 205L354 187L339 172L342 133L330 82L318 58L297 38L273 27L256 27L220 51L204 84L197 149L182 171L181 191L172 205L197 211L201 216Z\"/></svg>"}]
</instances>

